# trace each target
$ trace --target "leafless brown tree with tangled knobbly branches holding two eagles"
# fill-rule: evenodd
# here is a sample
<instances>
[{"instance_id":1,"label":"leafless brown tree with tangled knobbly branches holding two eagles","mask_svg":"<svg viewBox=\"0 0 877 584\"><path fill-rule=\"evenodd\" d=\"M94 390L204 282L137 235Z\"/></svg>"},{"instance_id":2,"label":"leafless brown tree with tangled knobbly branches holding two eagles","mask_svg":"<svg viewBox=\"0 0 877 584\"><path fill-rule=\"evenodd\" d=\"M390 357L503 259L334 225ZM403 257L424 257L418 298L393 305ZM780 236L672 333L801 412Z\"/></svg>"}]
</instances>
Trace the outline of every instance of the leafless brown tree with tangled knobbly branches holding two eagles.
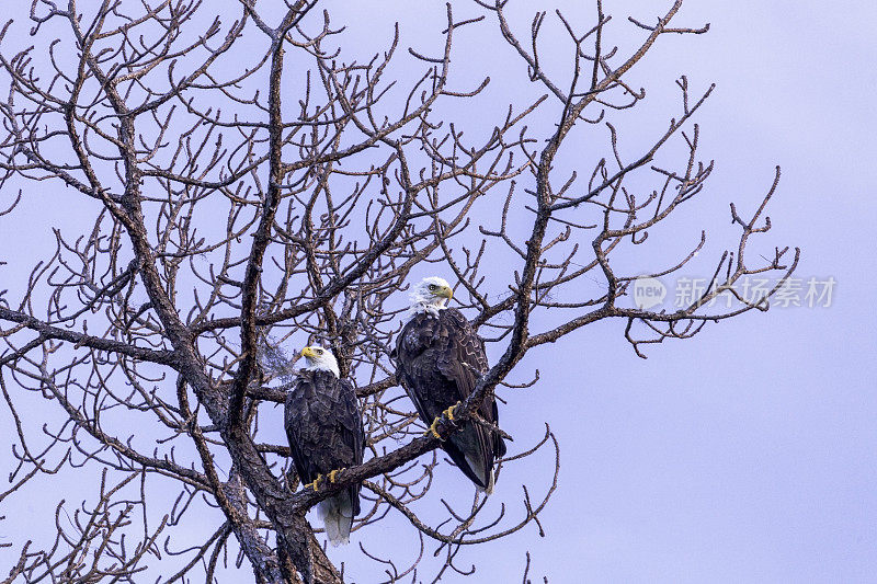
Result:
<instances>
[{"instance_id":1,"label":"leafless brown tree with tangled knobbly branches holding two eagles","mask_svg":"<svg viewBox=\"0 0 877 584\"><path fill-rule=\"evenodd\" d=\"M540 345L620 319L641 355L642 343L766 310L795 268L797 250L758 265L745 255L771 227L774 182L751 215L731 206L739 241L690 305L650 311L626 298L642 274L616 259L648 248L713 170L698 160L692 122L711 88L693 92L679 79L679 111L633 158L615 129L645 98L628 71L664 35L707 31L675 25L682 0L651 23L613 21L597 0L589 22L538 12L525 32L506 19L508 0L447 4L440 44L403 49L397 25L366 60L318 3L34 0L3 26L0 229L4 239L53 238L55 249L0 251L7 274L30 270L26 282L3 276L0 291L0 388L16 460L0 501L53 477L58 492L54 541L0 542L15 553L5 582L135 582L153 565L176 566L161 582L212 582L236 562L257 582L340 582L305 513L352 481L365 481L367 499L356 529L399 515L419 541L408 564L362 547L387 581L469 573L455 563L464 546L538 523L559 450L547 426L539 444L516 445L502 466L546 446L555 473L534 499L526 486L523 502L500 490L509 500L498 514L477 493L458 508L431 489L440 440L423 435L390 356L411 278L457 282L459 307L496 356L457 417L466 421L486 396L535 383L538 375L506 378ZM29 26L37 45L16 47ZM540 58L544 26L565 31L566 70ZM497 110L479 101L488 77L455 83L452 62L465 55L454 39L475 27L504 39L534 99L522 91ZM627 54L611 41L623 28L640 35ZM396 68L400 59L418 76ZM451 122L462 111L492 131L470 139ZM561 160L577 133L604 140L607 156ZM71 209L73 227L16 225L37 188ZM705 240L647 275L677 273ZM742 278L772 271L765 297L741 293ZM599 278L601 291L583 278ZM310 342L331 346L357 382L367 461L335 485L295 492L276 404L292 367L284 355ZM34 403L55 413L21 413ZM62 477L95 476L96 502L62 501ZM428 542L438 557L429 572Z\"/></svg>"}]
</instances>

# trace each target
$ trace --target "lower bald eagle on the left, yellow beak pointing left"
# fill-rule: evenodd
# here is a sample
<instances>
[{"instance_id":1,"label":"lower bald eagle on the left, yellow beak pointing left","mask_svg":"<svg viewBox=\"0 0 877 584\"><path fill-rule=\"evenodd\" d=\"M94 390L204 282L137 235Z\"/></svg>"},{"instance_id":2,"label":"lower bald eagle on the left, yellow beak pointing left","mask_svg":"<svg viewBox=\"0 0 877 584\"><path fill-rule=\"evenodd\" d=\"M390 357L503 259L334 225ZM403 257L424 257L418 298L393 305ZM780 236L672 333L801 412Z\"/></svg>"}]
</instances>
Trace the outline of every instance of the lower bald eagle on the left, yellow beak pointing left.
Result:
<instances>
[{"instance_id":1,"label":"lower bald eagle on the left, yellow beak pointing left","mask_svg":"<svg viewBox=\"0 0 877 584\"><path fill-rule=\"evenodd\" d=\"M300 369L286 393L284 425L298 477L316 491L323 476L334 482L335 474L363 462L363 430L356 390L341 379L338 362L329 350L306 346ZM360 488L351 484L317 504L333 546L350 541L353 517L360 513Z\"/></svg>"}]
</instances>

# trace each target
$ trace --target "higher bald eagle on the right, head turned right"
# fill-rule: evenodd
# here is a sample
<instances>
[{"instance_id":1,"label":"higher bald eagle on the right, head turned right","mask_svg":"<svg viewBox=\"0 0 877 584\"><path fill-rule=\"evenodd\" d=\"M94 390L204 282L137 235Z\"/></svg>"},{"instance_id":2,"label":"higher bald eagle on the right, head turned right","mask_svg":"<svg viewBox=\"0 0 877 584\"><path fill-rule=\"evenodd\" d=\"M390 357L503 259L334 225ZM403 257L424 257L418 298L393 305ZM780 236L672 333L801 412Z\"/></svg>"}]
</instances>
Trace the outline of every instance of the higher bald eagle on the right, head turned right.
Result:
<instances>
[{"instance_id":1,"label":"higher bald eagle on the right, head turned right","mask_svg":"<svg viewBox=\"0 0 877 584\"><path fill-rule=\"evenodd\" d=\"M489 369L483 343L469 321L445 307L452 296L444 279L423 279L411 293L411 319L396 339L396 377L421 420L433 424L431 430L443 412L453 416L449 409L466 400ZM499 422L492 397L478 413L492 424ZM502 436L469 421L442 448L479 490L493 491L493 461L505 454Z\"/></svg>"}]
</instances>

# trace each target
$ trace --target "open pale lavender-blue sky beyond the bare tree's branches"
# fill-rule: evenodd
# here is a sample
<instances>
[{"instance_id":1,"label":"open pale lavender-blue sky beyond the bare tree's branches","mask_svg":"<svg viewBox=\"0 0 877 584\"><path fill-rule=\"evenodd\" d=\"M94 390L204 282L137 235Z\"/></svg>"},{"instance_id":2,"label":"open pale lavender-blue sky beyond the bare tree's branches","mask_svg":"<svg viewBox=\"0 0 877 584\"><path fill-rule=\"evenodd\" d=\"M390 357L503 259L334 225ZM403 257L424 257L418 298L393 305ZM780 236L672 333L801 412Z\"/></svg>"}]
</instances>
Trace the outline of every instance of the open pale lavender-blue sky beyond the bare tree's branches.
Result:
<instances>
[{"instance_id":1,"label":"open pale lavender-blue sky beyond the bare tree's branches","mask_svg":"<svg viewBox=\"0 0 877 584\"><path fill-rule=\"evenodd\" d=\"M616 14L623 38L634 27L622 10L648 21L665 3L606 2L605 10ZM375 50L386 46L386 19L400 21L402 46L418 46L419 35L437 39L444 27L433 19L441 3L329 4L338 7L334 21L350 25L349 39L373 42ZM574 13L581 3L567 4ZM662 38L633 79L653 95L643 111L660 116L653 126L643 122L643 133L676 115L679 75L696 88L717 83L697 117L702 156L716 159L716 170L680 237L706 227L719 238L710 250L733 245L727 204L751 214L779 164L767 211L773 229L759 249L800 247L801 298L810 278L834 282L832 295L820 306L708 325L693 340L647 347L647 360L624 341L620 321L588 327L528 357L523 365L538 367L540 381L509 392L502 425L516 447L540 435L543 422L551 425L561 445L560 486L542 518L546 537L527 527L468 550L479 574L469 581L520 581L526 550L534 582L877 577L877 262L866 231L877 211L877 8L688 0L677 22L711 28ZM528 28L528 20L517 24ZM487 41L464 38L459 48L466 43ZM489 46L460 67L474 78L506 62L519 67L496 36ZM12 234L0 237L5 244ZM671 306L676 283L667 284ZM510 471L498 495L514 504L527 473ZM545 481L528 482L544 491ZM394 537L378 526L354 534L354 546ZM354 552L330 557L351 553L355 573Z\"/></svg>"}]
</instances>

